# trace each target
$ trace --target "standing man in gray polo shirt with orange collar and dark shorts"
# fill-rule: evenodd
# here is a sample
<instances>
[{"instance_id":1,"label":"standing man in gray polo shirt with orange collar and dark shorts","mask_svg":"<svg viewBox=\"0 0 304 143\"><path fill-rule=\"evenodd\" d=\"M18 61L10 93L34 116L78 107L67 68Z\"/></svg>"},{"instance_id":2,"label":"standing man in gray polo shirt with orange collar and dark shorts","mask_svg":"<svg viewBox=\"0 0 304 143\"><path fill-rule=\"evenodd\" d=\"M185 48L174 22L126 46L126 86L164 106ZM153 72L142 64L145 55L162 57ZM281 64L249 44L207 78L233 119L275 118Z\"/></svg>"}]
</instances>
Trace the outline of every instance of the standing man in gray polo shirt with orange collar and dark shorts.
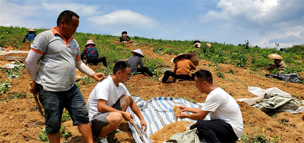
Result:
<instances>
[{"instance_id":1,"label":"standing man in gray polo shirt with orange collar and dark shorts","mask_svg":"<svg viewBox=\"0 0 304 143\"><path fill-rule=\"evenodd\" d=\"M75 83L75 67L84 74L102 80L104 74L95 73L80 57L80 47L72 35L79 26L79 16L63 11L57 27L36 36L26 58L26 71L33 81L30 92L39 93L45 109L46 133L50 142L60 142L60 124L63 108L78 125L86 142L93 142L86 101ZM37 71L37 61L40 59Z\"/></svg>"}]
</instances>

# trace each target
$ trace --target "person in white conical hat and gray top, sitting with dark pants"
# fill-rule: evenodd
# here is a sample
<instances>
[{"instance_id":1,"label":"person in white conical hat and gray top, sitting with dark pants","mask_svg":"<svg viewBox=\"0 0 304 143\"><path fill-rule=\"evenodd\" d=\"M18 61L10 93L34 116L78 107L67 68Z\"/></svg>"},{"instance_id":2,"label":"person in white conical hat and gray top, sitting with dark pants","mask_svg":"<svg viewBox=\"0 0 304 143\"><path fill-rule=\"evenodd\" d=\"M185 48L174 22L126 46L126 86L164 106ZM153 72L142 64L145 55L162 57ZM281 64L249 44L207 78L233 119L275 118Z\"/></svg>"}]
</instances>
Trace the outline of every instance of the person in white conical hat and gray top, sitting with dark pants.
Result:
<instances>
[{"instance_id":1,"label":"person in white conical hat and gray top, sitting with dark pants","mask_svg":"<svg viewBox=\"0 0 304 143\"><path fill-rule=\"evenodd\" d=\"M153 77L153 73L151 73L147 67L144 67L141 61L141 58L143 58L143 54L140 49L131 51L133 56L130 56L128 59L128 63L130 64L131 73L141 72L146 73L149 76ZM138 65L140 68L138 68Z\"/></svg>"}]
</instances>

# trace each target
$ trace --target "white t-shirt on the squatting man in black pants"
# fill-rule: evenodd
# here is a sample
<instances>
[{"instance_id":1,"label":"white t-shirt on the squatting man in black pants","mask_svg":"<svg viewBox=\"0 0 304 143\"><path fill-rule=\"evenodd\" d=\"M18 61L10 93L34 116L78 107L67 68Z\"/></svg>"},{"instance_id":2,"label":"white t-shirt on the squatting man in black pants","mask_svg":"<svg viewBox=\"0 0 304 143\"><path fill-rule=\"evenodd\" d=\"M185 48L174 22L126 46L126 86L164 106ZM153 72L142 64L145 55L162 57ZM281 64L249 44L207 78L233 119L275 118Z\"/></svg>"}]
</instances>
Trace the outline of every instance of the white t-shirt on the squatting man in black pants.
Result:
<instances>
[{"instance_id":1,"label":"white t-shirt on the squatting man in black pants","mask_svg":"<svg viewBox=\"0 0 304 143\"><path fill-rule=\"evenodd\" d=\"M211 111L212 119L219 119L229 123L238 137L243 133L243 118L237 102L222 88L212 90L202 108L204 111Z\"/></svg>"}]
</instances>

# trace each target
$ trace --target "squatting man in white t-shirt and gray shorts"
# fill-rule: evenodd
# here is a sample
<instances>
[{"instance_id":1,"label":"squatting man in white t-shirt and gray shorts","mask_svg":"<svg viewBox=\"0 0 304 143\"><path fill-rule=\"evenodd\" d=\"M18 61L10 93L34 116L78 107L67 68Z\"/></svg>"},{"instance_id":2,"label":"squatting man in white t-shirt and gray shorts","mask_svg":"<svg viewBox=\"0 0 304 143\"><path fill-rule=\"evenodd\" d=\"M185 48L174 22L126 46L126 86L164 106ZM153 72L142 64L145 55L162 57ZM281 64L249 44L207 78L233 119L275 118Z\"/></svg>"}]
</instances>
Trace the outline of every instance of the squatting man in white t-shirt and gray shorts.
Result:
<instances>
[{"instance_id":1,"label":"squatting man in white t-shirt and gray shorts","mask_svg":"<svg viewBox=\"0 0 304 143\"><path fill-rule=\"evenodd\" d=\"M131 97L125 83L131 75L130 64L125 61L117 62L113 68L113 74L98 82L92 90L87 103L89 120L93 135L104 138L116 129L122 122L131 121L133 116L126 112L130 106L131 110L140 119L141 129L147 123L144 121L136 103Z\"/></svg>"}]
</instances>

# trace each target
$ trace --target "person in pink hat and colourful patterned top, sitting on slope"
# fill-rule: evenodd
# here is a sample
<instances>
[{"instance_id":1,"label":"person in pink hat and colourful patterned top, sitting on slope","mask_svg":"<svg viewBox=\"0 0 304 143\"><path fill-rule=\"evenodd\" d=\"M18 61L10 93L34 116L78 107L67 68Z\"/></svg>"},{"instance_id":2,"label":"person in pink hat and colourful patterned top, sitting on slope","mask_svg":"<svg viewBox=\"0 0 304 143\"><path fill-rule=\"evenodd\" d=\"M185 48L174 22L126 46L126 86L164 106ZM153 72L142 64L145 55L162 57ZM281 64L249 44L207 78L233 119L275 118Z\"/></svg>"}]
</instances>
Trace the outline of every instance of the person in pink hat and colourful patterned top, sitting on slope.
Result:
<instances>
[{"instance_id":1,"label":"person in pink hat and colourful patterned top, sitting on slope","mask_svg":"<svg viewBox=\"0 0 304 143\"><path fill-rule=\"evenodd\" d=\"M91 63L93 65L97 65L98 63L102 62L103 66L107 67L105 57L98 58L98 51L95 45L96 44L93 42L93 40L88 40L87 44L85 45L86 48L81 54L81 59L85 64Z\"/></svg>"}]
</instances>

